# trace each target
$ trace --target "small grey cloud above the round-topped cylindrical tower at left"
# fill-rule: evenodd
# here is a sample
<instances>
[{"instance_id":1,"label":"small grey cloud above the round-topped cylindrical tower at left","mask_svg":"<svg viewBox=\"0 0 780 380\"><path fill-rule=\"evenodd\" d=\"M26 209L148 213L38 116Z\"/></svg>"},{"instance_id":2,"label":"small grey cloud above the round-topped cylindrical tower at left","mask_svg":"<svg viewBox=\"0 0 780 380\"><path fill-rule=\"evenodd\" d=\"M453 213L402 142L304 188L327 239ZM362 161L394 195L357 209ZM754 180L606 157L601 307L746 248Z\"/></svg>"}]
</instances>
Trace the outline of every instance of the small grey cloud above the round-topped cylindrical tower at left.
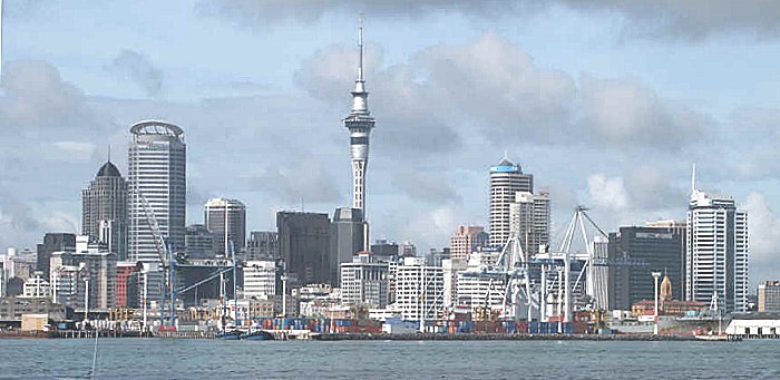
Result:
<instances>
[{"instance_id":1,"label":"small grey cloud above the round-topped cylindrical tower at left","mask_svg":"<svg viewBox=\"0 0 780 380\"><path fill-rule=\"evenodd\" d=\"M106 66L106 70L121 80L131 80L146 95L157 97L163 92L163 71L146 55L125 49Z\"/></svg>"}]
</instances>

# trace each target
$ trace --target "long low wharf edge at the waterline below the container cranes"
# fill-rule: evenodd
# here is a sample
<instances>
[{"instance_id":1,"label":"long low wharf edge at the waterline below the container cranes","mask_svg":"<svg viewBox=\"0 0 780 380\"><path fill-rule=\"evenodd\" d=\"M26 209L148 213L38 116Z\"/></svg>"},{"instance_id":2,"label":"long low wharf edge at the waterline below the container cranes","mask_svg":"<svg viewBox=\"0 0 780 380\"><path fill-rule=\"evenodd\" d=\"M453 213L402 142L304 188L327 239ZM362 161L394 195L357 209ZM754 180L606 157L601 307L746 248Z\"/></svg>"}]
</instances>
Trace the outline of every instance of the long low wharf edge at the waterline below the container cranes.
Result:
<instances>
[{"instance_id":1,"label":"long low wharf edge at the waterline below the container cranes","mask_svg":"<svg viewBox=\"0 0 780 380\"><path fill-rule=\"evenodd\" d=\"M503 334L503 333L409 333L409 334L362 334L362 333L343 333L343 334L319 334L312 337L321 341L342 341L342 340L589 340L589 341L694 341L693 337L683 335L653 335L653 334Z\"/></svg>"}]
</instances>

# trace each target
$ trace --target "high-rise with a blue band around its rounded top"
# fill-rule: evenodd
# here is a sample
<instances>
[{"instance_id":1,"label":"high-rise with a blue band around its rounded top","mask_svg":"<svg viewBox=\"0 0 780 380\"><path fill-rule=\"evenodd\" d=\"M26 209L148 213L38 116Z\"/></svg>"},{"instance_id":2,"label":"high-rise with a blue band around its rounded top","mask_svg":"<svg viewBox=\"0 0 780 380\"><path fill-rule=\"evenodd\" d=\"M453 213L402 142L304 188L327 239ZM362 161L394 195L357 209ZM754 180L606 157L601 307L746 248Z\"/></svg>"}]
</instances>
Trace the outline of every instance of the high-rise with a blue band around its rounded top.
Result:
<instances>
[{"instance_id":1,"label":"high-rise with a blue band around its rounded top","mask_svg":"<svg viewBox=\"0 0 780 380\"><path fill-rule=\"evenodd\" d=\"M510 205L517 192L534 193L534 176L504 157L490 166L490 245L504 246L510 236Z\"/></svg>"}]
</instances>

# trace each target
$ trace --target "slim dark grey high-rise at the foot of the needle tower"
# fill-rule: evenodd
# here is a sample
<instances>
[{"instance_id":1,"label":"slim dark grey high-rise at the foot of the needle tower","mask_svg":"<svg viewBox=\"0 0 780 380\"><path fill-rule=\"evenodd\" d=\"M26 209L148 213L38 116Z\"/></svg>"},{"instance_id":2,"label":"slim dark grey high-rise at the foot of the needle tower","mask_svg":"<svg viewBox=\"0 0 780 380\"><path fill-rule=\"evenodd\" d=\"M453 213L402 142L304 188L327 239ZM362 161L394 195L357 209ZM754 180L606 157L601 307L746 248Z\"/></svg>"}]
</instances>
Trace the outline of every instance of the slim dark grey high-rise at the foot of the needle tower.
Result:
<instances>
[{"instance_id":1,"label":"slim dark grey high-rise at the foot of the needle tower","mask_svg":"<svg viewBox=\"0 0 780 380\"><path fill-rule=\"evenodd\" d=\"M359 208L340 207L333 213L331 223L331 279L339 286L339 265L351 263L352 257L365 251L368 224Z\"/></svg>"}]
</instances>

